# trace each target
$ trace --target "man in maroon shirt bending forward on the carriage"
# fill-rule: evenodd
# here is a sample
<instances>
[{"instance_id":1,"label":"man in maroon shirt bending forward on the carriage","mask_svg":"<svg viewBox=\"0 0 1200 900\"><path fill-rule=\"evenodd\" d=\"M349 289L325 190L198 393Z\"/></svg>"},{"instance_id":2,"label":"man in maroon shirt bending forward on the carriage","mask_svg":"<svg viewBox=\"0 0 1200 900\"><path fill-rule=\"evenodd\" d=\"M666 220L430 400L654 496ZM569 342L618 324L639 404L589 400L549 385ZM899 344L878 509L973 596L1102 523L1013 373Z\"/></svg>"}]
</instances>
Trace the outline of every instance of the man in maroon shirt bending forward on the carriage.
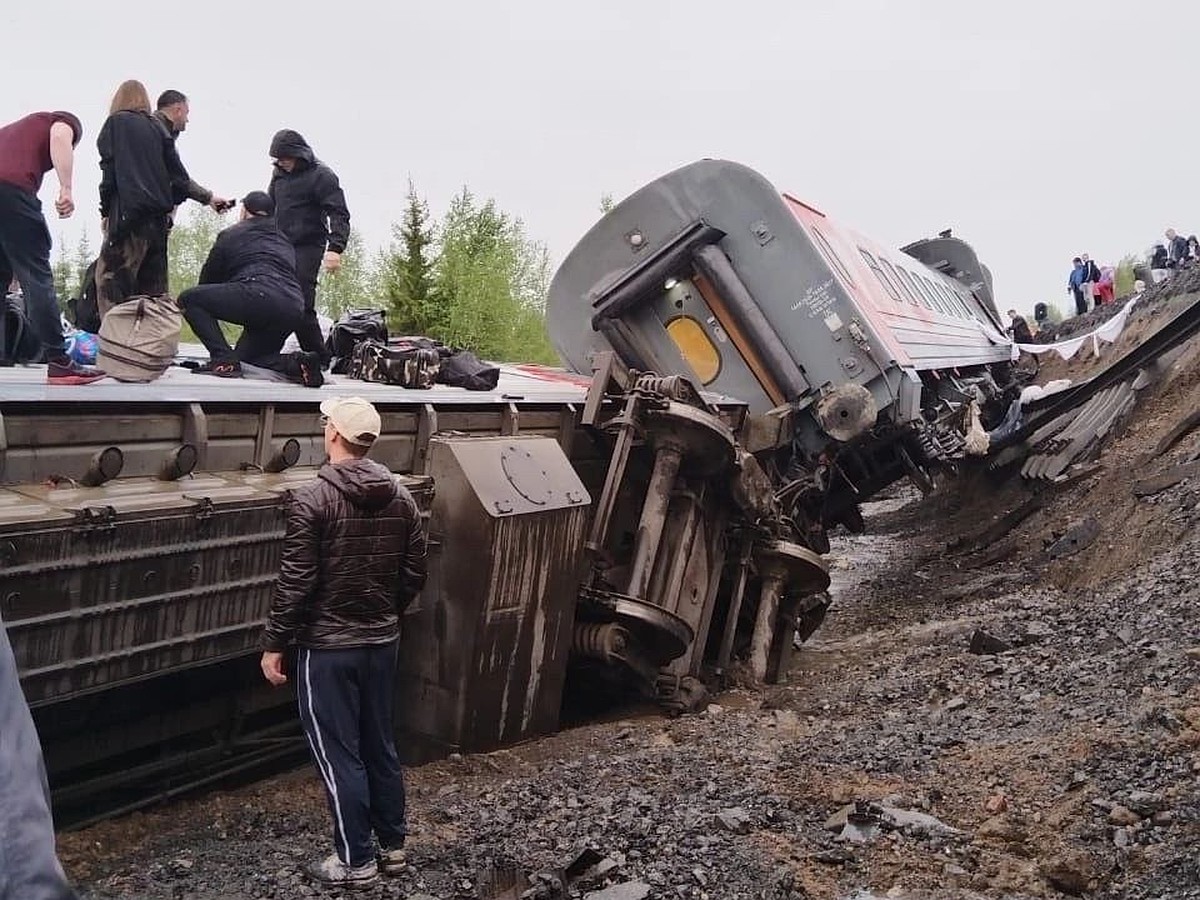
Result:
<instances>
[{"instance_id":1,"label":"man in maroon shirt bending forward on the carriage","mask_svg":"<svg viewBox=\"0 0 1200 900\"><path fill-rule=\"evenodd\" d=\"M44 347L50 384L89 384L104 377L67 356L50 274L50 229L37 199L42 176L54 169L59 179L54 209L59 218L74 212L71 176L82 137L83 125L64 112L34 113L0 127L0 257L20 282L30 325Z\"/></svg>"}]
</instances>

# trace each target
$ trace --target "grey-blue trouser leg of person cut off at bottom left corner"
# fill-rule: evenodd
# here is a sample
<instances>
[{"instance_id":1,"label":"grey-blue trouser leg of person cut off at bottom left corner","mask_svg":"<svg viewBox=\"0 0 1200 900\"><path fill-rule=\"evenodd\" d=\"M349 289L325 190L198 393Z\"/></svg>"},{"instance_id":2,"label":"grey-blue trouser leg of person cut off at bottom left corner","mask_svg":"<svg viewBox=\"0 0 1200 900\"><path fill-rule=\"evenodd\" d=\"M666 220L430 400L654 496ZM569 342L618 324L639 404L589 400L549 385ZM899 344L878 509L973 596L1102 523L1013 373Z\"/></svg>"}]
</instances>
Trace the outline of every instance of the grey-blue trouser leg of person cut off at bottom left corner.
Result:
<instances>
[{"instance_id":1,"label":"grey-blue trouser leg of person cut off at bottom left corner","mask_svg":"<svg viewBox=\"0 0 1200 900\"><path fill-rule=\"evenodd\" d=\"M7 286L6 286L7 287ZM0 898L72 900L54 850L42 745L0 622Z\"/></svg>"}]
</instances>

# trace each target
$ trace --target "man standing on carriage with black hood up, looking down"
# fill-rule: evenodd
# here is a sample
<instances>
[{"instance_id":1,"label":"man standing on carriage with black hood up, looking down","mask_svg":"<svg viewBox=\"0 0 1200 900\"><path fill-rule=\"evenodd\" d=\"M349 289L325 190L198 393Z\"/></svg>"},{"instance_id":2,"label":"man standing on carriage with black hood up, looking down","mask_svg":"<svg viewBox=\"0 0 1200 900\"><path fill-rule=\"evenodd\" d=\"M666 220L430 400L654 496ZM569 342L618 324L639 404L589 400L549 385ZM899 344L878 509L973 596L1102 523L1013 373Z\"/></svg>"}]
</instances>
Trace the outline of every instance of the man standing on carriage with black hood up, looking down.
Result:
<instances>
[{"instance_id":1,"label":"man standing on carriage with black hood up, looking down","mask_svg":"<svg viewBox=\"0 0 1200 900\"><path fill-rule=\"evenodd\" d=\"M350 239L350 211L337 175L316 157L299 132L284 128L271 138L275 172L266 191L275 200L280 230L296 251L296 277L304 293L304 319L296 328L300 349L319 353L328 365L329 350L317 323L317 274L324 263L337 271Z\"/></svg>"}]
</instances>

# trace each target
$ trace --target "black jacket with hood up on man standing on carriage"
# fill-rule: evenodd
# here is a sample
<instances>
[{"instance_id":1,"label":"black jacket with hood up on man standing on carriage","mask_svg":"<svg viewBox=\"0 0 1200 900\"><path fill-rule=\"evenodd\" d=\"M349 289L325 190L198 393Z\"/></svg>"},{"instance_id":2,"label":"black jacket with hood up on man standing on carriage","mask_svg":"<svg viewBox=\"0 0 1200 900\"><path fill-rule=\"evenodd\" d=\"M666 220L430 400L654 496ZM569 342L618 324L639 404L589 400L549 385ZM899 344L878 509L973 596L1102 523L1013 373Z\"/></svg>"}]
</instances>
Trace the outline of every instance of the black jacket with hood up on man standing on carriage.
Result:
<instances>
[{"instance_id":1,"label":"black jacket with hood up on man standing on carriage","mask_svg":"<svg viewBox=\"0 0 1200 900\"><path fill-rule=\"evenodd\" d=\"M275 200L275 218L293 246L322 246L342 253L350 239L350 211L337 175L316 157L290 128L271 138L271 156L296 161L292 172L276 167L266 192Z\"/></svg>"}]
</instances>

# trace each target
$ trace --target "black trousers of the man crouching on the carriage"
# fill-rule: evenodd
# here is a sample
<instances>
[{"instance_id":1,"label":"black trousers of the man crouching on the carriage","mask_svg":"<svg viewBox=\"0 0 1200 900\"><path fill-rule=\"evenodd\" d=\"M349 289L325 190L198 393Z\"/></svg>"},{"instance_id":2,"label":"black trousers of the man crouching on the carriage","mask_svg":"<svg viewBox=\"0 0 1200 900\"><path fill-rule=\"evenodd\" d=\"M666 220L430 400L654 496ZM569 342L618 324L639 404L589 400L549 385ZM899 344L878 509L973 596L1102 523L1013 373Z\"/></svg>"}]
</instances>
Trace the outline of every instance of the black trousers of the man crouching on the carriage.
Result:
<instances>
[{"instance_id":1,"label":"black trousers of the man crouching on the carriage","mask_svg":"<svg viewBox=\"0 0 1200 900\"><path fill-rule=\"evenodd\" d=\"M278 368L280 350L298 320L294 299L280 299L269 286L253 282L197 284L179 295L179 305L214 362L236 359ZM226 340L222 322L242 325L236 347Z\"/></svg>"}]
</instances>

